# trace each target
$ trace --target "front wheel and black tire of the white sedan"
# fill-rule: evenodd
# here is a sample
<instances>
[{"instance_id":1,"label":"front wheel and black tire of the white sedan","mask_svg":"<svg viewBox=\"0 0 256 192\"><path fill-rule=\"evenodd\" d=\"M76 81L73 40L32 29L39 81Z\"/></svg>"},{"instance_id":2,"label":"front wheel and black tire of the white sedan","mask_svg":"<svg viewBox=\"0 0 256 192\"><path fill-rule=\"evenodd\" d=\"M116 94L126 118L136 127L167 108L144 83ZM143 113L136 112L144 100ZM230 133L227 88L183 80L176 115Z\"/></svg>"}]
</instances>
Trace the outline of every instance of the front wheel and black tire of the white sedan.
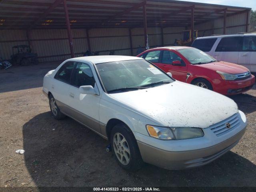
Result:
<instances>
[{"instance_id":1,"label":"front wheel and black tire of the white sedan","mask_svg":"<svg viewBox=\"0 0 256 192\"><path fill-rule=\"evenodd\" d=\"M117 138L120 138L122 142L119 142ZM142 167L143 160L137 141L125 124L117 124L113 127L110 144L116 161L123 169L136 171Z\"/></svg>"}]
</instances>

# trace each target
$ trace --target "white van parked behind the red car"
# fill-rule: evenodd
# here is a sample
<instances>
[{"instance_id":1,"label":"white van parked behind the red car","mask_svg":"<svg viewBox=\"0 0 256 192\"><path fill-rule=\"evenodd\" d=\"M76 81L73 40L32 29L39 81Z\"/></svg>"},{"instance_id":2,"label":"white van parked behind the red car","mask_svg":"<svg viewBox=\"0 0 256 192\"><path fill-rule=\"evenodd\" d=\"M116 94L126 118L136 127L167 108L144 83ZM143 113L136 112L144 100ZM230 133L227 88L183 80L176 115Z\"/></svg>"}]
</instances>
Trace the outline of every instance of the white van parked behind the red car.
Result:
<instances>
[{"instance_id":1,"label":"white van parked behind the red car","mask_svg":"<svg viewBox=\"0 0 256 192\"><path fill-rule=\"evenodd\" d=\"M256 72L256 34L200 37L196 38L192 47L217 60L240 64Z\"/></svg>"}]
</instances>

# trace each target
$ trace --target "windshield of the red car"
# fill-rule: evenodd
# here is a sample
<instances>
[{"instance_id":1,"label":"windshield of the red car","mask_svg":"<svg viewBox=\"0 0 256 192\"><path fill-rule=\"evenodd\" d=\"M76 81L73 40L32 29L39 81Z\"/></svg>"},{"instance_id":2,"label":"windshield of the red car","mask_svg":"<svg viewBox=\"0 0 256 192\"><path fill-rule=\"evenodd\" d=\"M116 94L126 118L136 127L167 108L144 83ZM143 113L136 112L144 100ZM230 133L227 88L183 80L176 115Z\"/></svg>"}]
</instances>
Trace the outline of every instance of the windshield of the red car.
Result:
<instances>
[{"instance_id":1,"label":"windshield of the red car","mask_svg":"<svg viewBox=\"0 0 256 192\"><path fill-rule=\"evenodd\" d=\"M217 61L205 52L196 48L178 50L191 64L206 64Z\"/></svg>"}]
</instances>

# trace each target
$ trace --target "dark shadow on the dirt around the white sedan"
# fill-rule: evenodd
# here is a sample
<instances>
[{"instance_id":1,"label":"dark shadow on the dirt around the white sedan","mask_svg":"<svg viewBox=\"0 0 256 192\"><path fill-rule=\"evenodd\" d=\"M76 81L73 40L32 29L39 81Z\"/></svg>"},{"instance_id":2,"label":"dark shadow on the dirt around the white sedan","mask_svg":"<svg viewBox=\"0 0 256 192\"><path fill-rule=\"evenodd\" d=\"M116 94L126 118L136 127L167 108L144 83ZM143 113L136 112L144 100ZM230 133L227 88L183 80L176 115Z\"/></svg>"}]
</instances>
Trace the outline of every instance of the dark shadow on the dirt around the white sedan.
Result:
<instances>
[{"instance_id":1,"label":"dark shadow on the dirt around the white sedan","mask_svg":"<svg viewBox=\"0 0 256 192\"><path fill-rule=\"evenodd\" d=\"M256 166L234 152L190 170L146 164L122 170L106 140L74 120L38 114L23 126L26 167L37 186L254 186Z\"/></svg>"}]
</instances>

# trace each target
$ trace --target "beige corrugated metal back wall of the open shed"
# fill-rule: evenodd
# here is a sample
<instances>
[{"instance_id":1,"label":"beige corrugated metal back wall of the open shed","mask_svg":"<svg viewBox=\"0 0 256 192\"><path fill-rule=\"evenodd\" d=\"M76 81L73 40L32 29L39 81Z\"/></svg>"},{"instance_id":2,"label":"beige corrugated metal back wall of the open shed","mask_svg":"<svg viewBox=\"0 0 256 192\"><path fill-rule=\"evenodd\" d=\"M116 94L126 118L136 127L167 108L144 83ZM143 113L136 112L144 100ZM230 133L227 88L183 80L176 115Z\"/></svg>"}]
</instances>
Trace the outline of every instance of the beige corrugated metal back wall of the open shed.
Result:
<instances>
[{"instance_id":1,"label":"beige corrugated metal back wall of the open shed","mask_svg":"<svg viewBox=\"0 0 256 192\"><path fill-rule=\"evenodd\" d=\"M227 34L236 34L246 31L246 13L227 17ZM223 19L195 25L199 36L223 33ZM168 27L163 29L164 46L172 45L175 39L182 38L185 27ZM88 31L91 51L100 51L100 55L109 54L110 50L115 55L131 55L130 34L128 28L102 28ZM74 50L76 56L88 50L86 29L73 29ZM144 47L144 29L133 28L132 52L136 55L139 46ZM161 28L148 28L150 48L162 46ZM32 50L38 54L40 62L65 60L71 57L66 29L32 30L30 34ZM12 46L28 45L26 30L0 30L0 57L10 59Z\"/></svg>"}]
</instances>

